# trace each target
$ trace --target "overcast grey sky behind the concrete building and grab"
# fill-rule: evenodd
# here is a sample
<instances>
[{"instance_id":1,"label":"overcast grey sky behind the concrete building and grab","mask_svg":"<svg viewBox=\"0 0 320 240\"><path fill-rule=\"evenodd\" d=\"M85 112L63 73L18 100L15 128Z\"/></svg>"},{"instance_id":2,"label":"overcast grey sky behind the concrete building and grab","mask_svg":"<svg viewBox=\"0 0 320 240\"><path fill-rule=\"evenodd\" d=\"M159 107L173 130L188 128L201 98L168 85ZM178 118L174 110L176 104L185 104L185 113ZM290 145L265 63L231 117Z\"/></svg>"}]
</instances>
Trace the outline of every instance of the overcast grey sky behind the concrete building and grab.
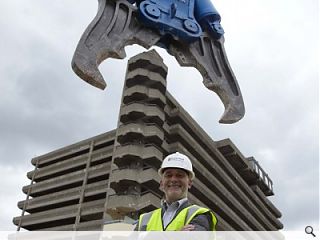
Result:
<instances>
[{"instance_id":1,"label":"overcast grey sky behind the concrete building and grab","mask_svg":"<svg viewBox=\"0 0 320 240\"><path fill-rule=\"evenodd\" d=\"M245 101L236 124L218 123L223 105L197 70L169 67L168 90L213 138L230 138L274 183L269 199L284 230L319 226L319 3L317 0L215 0L225 48ZM100 70L105 91L80 80L70 62L98 2L0 2L0 230L15 230L17 202L33 157L116 127L125 60ZM132 57L142 47L126 48Z\"/></svg>"}]
</instances>

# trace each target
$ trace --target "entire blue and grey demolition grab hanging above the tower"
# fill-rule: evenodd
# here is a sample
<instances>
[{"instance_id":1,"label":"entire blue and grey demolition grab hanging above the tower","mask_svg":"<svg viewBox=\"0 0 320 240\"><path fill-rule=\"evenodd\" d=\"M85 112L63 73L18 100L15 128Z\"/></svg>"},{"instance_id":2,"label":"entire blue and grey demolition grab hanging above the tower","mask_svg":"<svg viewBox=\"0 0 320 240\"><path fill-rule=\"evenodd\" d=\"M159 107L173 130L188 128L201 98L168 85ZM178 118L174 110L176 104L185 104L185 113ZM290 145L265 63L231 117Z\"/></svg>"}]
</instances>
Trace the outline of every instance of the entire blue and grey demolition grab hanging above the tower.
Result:
<instances>
[{"instance_id":1,"label":"entire blue and grey demolition grab hanging above the tower","mask_svg":"<svg viewBox=\"0 0 320 240\"><path fill-rule=\"evenodd\" d=\"M104 89L98 66L123 59L125 46L165 48L181 66L198 69L203 84L224 104L220 123L239 121L245 113L238 82L224 50L220 15L210 0L98 0L96 17L83 33L72 59L74 72Z\"/></svg>"}]
</instances>

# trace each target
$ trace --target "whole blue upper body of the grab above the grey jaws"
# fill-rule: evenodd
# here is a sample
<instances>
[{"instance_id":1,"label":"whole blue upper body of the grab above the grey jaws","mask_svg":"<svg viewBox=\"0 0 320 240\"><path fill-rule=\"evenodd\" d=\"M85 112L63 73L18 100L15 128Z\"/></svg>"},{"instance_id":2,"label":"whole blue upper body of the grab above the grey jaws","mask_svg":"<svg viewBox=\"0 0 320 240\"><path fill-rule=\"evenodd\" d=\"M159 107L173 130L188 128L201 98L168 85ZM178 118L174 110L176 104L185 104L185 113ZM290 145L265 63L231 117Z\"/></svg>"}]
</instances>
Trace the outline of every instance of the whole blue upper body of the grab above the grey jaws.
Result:
<instances>
[{"instance_id":1,"label":"whole blue upper body of the grab above the grey jaws","mask_svg":"<svg viewBox=\"0 0 320 240\"><path fill-rule=\"evenodd\" d=\"M127 1L137 4L139 19L145 26L158 29L162 35L193 42L202 31L214 39L224 34L220 14L210 0Z\"/></svg>"}]
</instances>

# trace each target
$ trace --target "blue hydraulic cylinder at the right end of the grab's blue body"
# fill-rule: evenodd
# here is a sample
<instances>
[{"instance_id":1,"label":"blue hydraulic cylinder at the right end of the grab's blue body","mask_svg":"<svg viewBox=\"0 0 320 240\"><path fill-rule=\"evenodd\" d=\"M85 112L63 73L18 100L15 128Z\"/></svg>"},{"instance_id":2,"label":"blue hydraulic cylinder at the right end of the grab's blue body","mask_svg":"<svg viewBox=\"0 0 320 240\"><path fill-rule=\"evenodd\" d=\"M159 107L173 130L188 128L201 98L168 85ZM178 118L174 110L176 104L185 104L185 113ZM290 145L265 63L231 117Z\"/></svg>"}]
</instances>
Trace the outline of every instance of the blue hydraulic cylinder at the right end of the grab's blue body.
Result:
<instances>
[{"instance_id":1,"label":"blue hydraulic cylinder at the right end of the grab's blue body","mask_svg":"<svg viewBox=\"0 0 320 240\"><path fill-rule=\"evenodd\" d=\"M215 39L222 37L221 16L210 0L195 0L194 15L203 31Z\"/></svg>"}]
</instances>

